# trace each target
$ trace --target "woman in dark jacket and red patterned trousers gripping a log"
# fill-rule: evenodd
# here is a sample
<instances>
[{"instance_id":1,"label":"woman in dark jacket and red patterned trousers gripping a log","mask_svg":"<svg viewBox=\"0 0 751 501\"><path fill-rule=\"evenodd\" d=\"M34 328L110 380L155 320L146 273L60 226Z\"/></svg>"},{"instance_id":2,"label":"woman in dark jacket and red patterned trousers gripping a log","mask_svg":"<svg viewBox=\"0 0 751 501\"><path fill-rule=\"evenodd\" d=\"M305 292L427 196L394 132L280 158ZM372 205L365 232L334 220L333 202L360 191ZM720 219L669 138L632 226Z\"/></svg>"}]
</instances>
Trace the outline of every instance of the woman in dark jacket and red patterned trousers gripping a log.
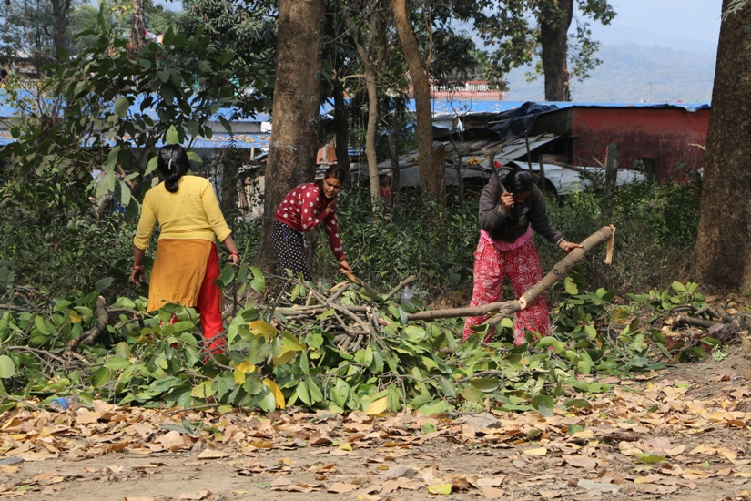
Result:
<instances>
[{"instance_id":1,"label":"woman in dark jacket and red patterned trousers gripping a log","mask_svg":"<svg viewBox=\"0 0 751 501\"><path fill-rule=\"evenodd\" d=\"M533 229L566 253L582 247L566 241L555 229L548 218L543 193L526 170L503 167L498 169L498 176L491 176L480 196L480 227L480 241L474 252L471 308L500 301L504 277L511 280L517 299L543 279ZM474 333L472 326L484 323L488 316L467 317L463 338L470 337ZM524 343L525 330L550 335L545 294L514 315L514 344ZM492 333L485 336L485 343L490 342Z\"/></svg>"}]
</instances>

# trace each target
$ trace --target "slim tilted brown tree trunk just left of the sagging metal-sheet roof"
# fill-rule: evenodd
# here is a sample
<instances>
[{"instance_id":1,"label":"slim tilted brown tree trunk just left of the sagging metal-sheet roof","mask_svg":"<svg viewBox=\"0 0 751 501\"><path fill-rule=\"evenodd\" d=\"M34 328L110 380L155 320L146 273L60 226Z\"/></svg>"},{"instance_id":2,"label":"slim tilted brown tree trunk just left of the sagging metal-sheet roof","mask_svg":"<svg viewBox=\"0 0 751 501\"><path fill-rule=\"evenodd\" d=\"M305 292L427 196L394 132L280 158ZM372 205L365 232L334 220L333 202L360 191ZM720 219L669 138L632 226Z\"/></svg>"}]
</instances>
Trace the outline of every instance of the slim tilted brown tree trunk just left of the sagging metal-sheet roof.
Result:
<instances>
[{"instance_id":1,"label":"slim tilted brown tree trunk just left of the sagging metal-sheet roof","mask_svg":"<svg viewBox=\"0 0 751 501\"><path fill-rule=\"evenodd\" d=\"M433 158L433 125L431 109L431 84L420 56L417 39L410 25L407 0L393 0L391 13L394 15L401 50L410 68L415 107L417 108L417 144L420 167L420 187L426 199L446 203L445 166L436 166ZM440 169L440 170L439 170Z\"/></svg>"}]
</instances>

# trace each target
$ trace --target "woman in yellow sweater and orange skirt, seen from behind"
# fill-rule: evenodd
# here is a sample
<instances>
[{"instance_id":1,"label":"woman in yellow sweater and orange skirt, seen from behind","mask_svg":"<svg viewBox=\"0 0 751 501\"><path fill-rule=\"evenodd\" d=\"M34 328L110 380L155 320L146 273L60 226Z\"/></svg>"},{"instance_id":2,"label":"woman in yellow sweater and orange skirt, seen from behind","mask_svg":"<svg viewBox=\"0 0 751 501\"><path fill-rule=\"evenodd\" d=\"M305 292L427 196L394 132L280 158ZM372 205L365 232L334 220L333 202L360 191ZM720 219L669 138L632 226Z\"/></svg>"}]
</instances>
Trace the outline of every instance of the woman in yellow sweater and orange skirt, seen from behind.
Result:
<instances>
[{"instance_id":1,"label":"woman in yellow sweater and orange skirt, seen from behind","mask_svg":"<svg viewBox=\"0 0 751 501\"><path fill-rule=\"evenodd\" d=\"M179 145L161 149L157 158L160 179L144 199L138 221L133 271L130 280L140 286L146 271L142 263L148 240L159 223L157 257L151 271L147 311L153 312L175 302L194 306L201 319L207 348L223 353L227 343L221 317L221 292L214 284L220 273L214 237L224 243L233 264L238 264L238 248L208 179L185 176L190 168L188 154Z\"/></svg>"}]
</instances>

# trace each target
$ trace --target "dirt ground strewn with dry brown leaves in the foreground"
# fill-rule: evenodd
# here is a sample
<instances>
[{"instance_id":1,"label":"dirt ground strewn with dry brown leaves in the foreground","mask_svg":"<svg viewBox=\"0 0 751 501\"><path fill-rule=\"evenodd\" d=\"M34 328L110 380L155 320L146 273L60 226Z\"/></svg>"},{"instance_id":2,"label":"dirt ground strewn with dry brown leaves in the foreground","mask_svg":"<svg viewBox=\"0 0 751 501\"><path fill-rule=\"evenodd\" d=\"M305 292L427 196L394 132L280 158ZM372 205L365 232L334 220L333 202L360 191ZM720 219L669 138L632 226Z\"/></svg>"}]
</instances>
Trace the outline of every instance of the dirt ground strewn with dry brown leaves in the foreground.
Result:
<instances>
[{"instance_id":1,"label":"dirt ground strewn with dry brown leaves in the foreground","mask_svg":"<svg viewBox=\"0 0 751 501\"><path fill-rule=\"evenodd\" d=\"M15 410L0 497L748 500L751 363L723 356L607 378L591 407L547 417Z\"/></svg>"}]
</instances>

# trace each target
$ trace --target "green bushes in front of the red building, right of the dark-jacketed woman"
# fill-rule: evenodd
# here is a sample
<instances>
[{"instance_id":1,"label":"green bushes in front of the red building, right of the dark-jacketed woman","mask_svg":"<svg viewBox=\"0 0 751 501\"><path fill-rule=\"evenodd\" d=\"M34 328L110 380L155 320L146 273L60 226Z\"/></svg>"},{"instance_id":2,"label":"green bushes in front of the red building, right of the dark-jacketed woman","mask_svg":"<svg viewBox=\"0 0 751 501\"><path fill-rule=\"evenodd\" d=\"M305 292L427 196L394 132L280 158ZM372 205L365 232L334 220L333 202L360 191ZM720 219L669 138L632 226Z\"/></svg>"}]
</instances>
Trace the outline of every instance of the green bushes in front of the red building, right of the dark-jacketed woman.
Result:
<instances>
[{"instance_id":1,"label":"green bushes in front of the red building, right of the dark-jacketed woman","mask_svg":"<svg viewBox=\"0 0 751 501\"><path fill-rule=\"evenodd\" d=\"M601 210L603 195L579 192L559 204L548 200L553 224L566 239L581 241L605 225L614 224L614 262L602 262L603 249L579 262L590 287L634 292L667 287L682 278L692 256L698 230L701 193L700 179L685 185L665 181L636 182L618 189L613 213L606 218ZM561 252L546 241L537 240L543 270L561 260Z\"/></svg>"}]
</instances>

